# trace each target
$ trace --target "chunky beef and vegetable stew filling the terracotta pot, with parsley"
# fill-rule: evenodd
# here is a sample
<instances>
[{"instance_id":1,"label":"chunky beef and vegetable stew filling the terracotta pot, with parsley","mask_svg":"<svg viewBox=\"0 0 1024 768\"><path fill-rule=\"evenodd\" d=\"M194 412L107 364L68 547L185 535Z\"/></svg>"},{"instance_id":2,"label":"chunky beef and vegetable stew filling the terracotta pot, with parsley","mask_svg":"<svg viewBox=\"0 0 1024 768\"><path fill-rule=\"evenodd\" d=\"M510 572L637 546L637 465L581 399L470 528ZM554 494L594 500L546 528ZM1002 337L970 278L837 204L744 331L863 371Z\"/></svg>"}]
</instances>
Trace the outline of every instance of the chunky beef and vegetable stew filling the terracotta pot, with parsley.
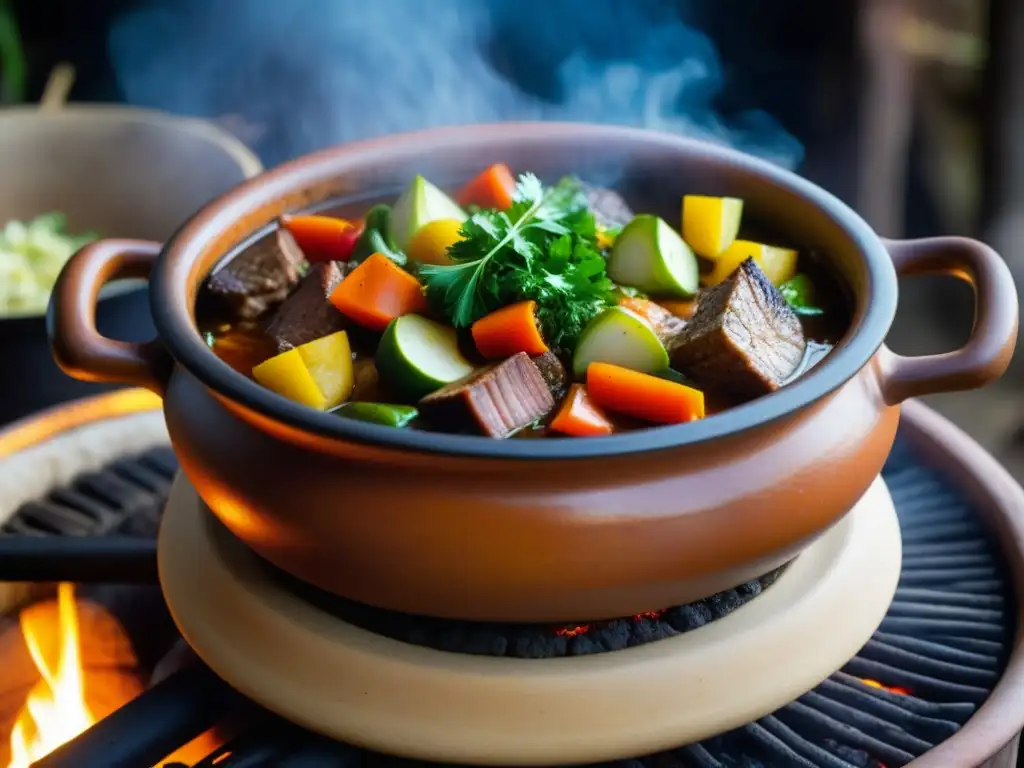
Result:
<instances>
[{"instance_id":1,"label":"chunky beef and vegetable stew filling the terracotta pot, with parsley","mask_svg":"<svg viewBox=\"0 0 1024 768\"><path fill-rule=\"evenodd\" d=\"M458 201L458 202L457 202ZM283 216L206 281L213 351L284 397L395 429L587 437L680 424L802 375L848 325L808 251L679 227L610 189L485 169L417 176L359 220Z\"/></svg>"}]
</instances>

